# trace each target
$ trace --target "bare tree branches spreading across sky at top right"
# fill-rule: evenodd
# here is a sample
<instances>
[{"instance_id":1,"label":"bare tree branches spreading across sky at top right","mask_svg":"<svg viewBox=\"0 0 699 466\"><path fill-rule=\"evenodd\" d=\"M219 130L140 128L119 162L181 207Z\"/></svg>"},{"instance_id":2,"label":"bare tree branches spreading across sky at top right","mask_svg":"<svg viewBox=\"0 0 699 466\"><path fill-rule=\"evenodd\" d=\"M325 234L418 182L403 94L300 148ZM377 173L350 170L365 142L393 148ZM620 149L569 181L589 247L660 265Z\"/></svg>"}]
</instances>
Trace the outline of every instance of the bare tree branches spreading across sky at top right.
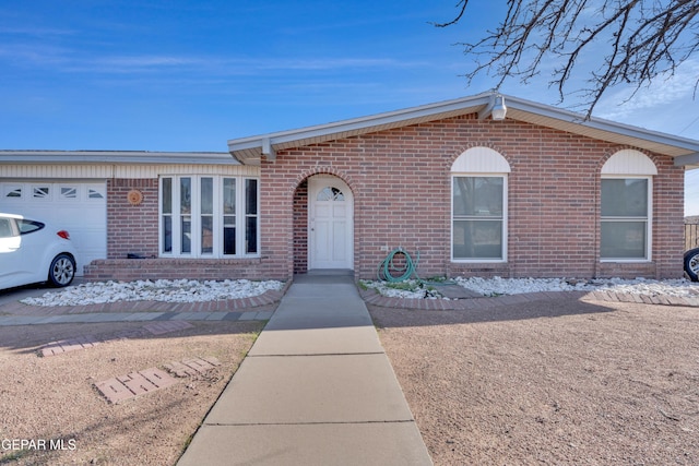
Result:
<instances>
[{"instance_id":1,"label":"bare tree branches spreading across sky at top right","mask_svg":"<svg viewBox=\"0 0 699 466\"><path fill-rule=\"evenodd\" d=\"M457 24L467 5L459 1L458 15L435 26ZM573 77L587 75L587 87L572 92L584 97L590 117L617 84L633 85L636 94L657 77L674 75L699 49L698 19L698 0L605 0L601 5L595 0L508 0L495 31L459 45L474 60L465 74L470 83L483 72L497 77L498 87L508 77L526 83L548 63L558 63L548 84L562 101ZM597 64L590 69L584 61L593 48Z\"/></svg>"}]
</instances>

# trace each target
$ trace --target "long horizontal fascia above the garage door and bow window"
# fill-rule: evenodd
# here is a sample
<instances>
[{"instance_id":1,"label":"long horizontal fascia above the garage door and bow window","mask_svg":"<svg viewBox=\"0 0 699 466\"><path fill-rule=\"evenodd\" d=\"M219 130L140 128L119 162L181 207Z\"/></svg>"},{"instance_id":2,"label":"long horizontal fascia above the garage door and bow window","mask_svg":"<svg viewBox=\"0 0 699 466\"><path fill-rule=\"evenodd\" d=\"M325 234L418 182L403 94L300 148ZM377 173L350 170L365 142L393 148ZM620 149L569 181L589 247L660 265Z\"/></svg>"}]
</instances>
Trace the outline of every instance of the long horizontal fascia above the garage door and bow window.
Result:
<instances>
[{"instance_id":1,"label":"long horizontal fascia above the garage door and bow window","mask_svg":"<svg viewBox=\"0 0 699 466\"><path fill-rule=\"evenodd\" d=\"M0 151L0 164L239 165L226 152Z\"/></svg>"}]
</instances>

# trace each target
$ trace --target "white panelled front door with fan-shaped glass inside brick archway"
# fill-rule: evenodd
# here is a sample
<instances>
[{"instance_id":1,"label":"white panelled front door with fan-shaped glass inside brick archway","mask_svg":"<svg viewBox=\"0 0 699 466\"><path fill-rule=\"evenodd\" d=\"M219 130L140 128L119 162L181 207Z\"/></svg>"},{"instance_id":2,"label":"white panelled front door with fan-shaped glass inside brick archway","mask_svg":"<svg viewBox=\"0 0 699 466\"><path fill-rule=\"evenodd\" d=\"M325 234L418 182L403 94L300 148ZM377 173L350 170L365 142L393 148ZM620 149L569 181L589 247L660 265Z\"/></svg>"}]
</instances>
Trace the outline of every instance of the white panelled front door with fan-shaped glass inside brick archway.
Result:
<instances>
[{"instance_id":1,"label":"white panelled front door with fan-shaped glass inside brick archway","mask_svg":"<svg viewBox=\"0 0 699 466\"><path fill-rule=\"evenodd\" d=\"M353 268L354 202L337 177L308 179L308 267Z\"/></svg>"}]
</instances>

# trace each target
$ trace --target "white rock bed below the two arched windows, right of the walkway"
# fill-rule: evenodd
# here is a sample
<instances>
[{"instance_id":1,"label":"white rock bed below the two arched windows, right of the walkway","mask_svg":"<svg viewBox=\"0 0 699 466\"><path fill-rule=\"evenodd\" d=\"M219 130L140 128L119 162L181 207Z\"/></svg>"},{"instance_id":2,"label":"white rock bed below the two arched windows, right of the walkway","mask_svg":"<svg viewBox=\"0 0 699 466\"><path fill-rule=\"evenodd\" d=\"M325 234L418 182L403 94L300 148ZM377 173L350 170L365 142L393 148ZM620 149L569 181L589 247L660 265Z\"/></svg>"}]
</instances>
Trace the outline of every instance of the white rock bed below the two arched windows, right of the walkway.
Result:
<instances>
[{"instance_id":1,"label":"white rock bed below the two arched windows, right of the walkway","mask_svg":"<svg viewBox=\"0 0 699 466\"><path fill-rule=\"evenodd\" d=\"M457 277L455 284L476 291L483 296L518 295L537 291L616 291L647 296L699 296L699 284L686 279L651 280L644 278L621 279L571 279L571 278L481 278ZM415 290L396 289L386 282L363 282L369 288L377 289L381 295L392 298L420 299L425 298L425 290L418 288L417 280L405 282L404 285ZM401 285L403 287L403 285ZM439 292L439 285L434 286ZM446 299L446 298L445 298Z\"/></svg>"}]
</instances>

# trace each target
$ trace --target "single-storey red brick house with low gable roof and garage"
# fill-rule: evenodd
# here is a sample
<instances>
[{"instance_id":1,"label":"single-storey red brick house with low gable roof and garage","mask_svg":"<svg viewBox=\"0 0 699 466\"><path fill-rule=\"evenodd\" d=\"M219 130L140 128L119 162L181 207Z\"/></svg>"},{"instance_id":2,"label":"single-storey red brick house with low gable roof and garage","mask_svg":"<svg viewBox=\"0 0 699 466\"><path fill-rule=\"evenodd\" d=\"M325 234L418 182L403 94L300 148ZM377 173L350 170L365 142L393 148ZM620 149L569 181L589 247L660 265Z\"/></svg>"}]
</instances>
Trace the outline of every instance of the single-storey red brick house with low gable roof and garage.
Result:
<instances>
[{"instance_id":1,"label":"single-storey red brick house with low gable roof and garage","mask_svg":"<svg viewBox=\"0 0 699 466\"><path fill-rule=\"evenodd\" d=\"M486 93L228 147L0 151L0 211L63 212L88 279L683 276L697 141Z\"/></svg>"}]
</instances>

